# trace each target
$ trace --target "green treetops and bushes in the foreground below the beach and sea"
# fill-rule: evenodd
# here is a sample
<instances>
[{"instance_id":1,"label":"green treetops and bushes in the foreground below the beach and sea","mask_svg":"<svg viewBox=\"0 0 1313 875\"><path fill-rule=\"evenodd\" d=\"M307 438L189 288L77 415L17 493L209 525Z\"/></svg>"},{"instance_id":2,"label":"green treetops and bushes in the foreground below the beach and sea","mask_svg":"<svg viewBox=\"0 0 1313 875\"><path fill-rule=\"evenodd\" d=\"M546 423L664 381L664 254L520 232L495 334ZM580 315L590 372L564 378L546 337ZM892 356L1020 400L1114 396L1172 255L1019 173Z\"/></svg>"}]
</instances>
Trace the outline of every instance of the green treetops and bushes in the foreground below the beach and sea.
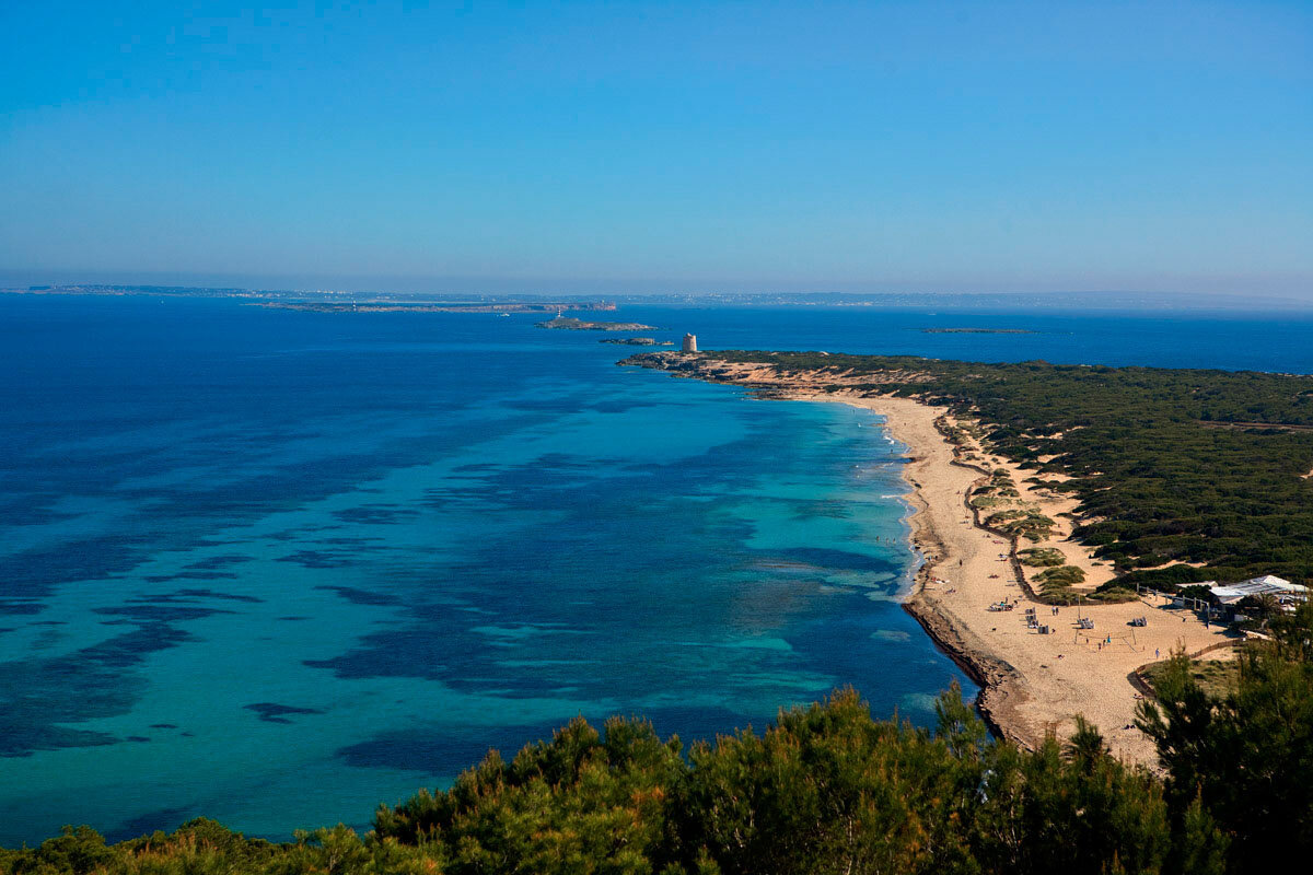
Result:
<instances>
[{"instance_id":1,"label":"green treetops and bushes in the foreground below the beach and sea","mask_svg":"<svg viewBox=\"0 0 1313 875\"><path fill-rule=\"evenodd\" d=\"M1083 723L1027 752L989 739L956 690L934 731L872 720L850 690L687 752L643 720L574 720L381 807L364 836L274 845L197 820L106 846L79 828L0 851L0 874L1283 871L1313 854L1313 609L1272 634L1225 697L1183 655L1158 674L1140 723L1165 781Z\"/></svg>"}]
</instances>

